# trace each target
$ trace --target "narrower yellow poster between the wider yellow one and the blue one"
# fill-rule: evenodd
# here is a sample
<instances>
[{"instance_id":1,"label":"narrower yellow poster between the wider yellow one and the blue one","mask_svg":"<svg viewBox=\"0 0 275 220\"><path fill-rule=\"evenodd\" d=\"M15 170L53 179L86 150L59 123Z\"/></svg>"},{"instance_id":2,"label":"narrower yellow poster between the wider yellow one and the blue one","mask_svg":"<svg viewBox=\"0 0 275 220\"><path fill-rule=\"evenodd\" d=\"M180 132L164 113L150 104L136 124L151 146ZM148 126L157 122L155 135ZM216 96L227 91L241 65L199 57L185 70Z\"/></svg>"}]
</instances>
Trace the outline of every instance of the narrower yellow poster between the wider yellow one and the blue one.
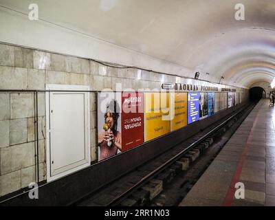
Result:
<instances>
[{"instance_id":1,"label":"narrower yellow poster between the wider yellow one and the blue one","mask_svg":"<svg viewBox=\"0 0 275 220\"><path fill-rule=\"evenodd\" d=\"M187 93L171 93L175 100L175 116L171 120L171 131L187 125Z\"/></svg>"}]
</instances>

